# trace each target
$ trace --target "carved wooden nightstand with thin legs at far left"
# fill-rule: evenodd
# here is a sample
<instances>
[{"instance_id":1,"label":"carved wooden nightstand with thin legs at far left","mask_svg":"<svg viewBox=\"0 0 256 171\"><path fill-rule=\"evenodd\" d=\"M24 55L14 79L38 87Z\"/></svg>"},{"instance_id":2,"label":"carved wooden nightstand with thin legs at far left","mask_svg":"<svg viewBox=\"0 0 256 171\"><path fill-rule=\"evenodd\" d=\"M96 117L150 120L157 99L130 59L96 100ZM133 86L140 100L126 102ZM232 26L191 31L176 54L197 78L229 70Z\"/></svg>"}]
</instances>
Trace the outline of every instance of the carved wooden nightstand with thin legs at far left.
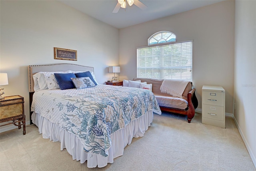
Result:
<instances>
[{"instance_id":1,"label":"carved wooden nightstand with thin legs at far left","mask_svg":"<svg viewBox=\"0 0 256 171\"><path fill-rule=\"evenodd\" d=\"M14 124L18 129L23 125L23 135L26 134L26 116L24 115L24 97L12 95L0 100L0 123L12 121L4 125ZM22 122L22 123L21 123ZM18 123L18 124L16 124ZM0 126L4 126L0 125Z\"/></svg>"}]
</instances>

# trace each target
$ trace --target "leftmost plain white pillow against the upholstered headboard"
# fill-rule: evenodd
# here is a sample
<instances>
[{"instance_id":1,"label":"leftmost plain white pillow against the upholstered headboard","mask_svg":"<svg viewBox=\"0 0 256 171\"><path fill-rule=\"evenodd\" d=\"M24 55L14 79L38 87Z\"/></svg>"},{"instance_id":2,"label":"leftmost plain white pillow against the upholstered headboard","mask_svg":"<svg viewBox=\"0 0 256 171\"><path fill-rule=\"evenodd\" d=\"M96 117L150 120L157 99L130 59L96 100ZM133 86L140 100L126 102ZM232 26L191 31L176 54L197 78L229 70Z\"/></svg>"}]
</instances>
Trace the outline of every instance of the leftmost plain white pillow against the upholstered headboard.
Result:
<instances>
[{"instance_id":1,"label":"leftmost plain white pillow against the upholstered headboard","mask_svg":"<svg viewBox=\"0 0 256 171\"><path fill-rule=\"evenodd\" d=\"M48 89L43 72L38 72L38 73L34 74L33 80L34 80L34 91Z\"/></svg>"}]
</instances>

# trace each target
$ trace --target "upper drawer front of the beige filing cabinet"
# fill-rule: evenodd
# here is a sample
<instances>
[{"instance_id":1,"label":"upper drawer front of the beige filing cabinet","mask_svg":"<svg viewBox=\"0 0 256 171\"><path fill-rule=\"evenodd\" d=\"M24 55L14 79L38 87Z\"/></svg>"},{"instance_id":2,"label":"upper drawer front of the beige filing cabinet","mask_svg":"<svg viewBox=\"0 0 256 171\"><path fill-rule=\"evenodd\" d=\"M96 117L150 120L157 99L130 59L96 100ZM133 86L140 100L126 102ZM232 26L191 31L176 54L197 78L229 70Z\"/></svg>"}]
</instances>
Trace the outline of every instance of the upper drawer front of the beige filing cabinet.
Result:
<instances>
[{"instance_id":1,"label":"upper drawer front of the beige filing cabinet","mask_svg":"<svg viewBox=\"0 0 256 171\"><path fill-rule=\"evenodd\" d=\"M224 106L224 92L203 91L203 103Z\"/></svg>"}]
</instances>

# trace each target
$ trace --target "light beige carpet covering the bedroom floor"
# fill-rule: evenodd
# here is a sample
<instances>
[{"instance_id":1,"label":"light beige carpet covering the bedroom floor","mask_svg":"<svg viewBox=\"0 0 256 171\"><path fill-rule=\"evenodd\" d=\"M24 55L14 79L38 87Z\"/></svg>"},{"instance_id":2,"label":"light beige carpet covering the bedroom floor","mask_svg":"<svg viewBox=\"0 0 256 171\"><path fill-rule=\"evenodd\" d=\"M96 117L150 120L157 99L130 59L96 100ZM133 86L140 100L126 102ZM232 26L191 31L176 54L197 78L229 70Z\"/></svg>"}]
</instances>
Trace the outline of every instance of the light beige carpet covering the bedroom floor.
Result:
<instances>
[{"instance_id":1,"label":"light beige carpet covering the bedroom floor","mask_svg":"<svg viewBox=\"0 0 256 171\"><path fill-rule=\"evenodd\" d=\"M0 134L1 171L255 171L232 117L226 129L204 125L201 113L191 123L183 115L162 113L144 137L134 138L124 155L104 168L72 160L60 143L43 139L35 125Z\"/></svg>"}]
</instances>

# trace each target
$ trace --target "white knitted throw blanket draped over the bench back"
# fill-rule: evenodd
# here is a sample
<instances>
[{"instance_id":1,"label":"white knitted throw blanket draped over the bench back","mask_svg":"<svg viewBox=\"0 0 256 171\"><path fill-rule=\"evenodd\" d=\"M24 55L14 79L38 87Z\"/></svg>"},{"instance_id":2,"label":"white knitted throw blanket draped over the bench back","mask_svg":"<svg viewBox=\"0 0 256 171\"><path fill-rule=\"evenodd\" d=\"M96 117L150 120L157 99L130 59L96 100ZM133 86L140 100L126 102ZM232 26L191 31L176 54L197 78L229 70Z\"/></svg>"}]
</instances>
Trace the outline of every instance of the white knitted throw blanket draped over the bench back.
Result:
<instances>
[{"instance_id":1,"label":"white knitted throw blanket draped over the bench back","mask_svg":"<svg viewBox=\"0 0 256 171\"><path fill-rule=\"evenodd\" d=\"M174 97L182 98L182 94L190 81L187 80L164 80L160 91L162 93L170 94Z\"/></svg>"}]
</instances>

